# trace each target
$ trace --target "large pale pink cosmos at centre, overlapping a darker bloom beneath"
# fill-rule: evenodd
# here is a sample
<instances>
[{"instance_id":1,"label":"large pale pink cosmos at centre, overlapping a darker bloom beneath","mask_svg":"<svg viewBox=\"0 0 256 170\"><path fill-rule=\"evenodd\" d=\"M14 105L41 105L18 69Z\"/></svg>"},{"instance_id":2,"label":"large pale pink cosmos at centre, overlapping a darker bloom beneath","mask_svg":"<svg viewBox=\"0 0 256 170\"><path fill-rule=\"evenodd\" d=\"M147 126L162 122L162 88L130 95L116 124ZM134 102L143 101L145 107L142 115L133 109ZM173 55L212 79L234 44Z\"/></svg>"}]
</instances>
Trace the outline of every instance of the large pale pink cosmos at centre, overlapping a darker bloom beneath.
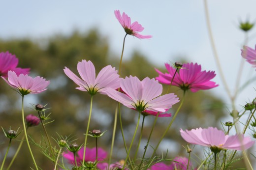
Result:
<instances>
[{"instance_id":1,"label":"large pale pink cosmos at centre, overlapping a darker bloom beneath","mask_svg":"<svg viewBox=\"0 0 256 170\"><path fill-rule=\"evenodd\" d=\"M179 102L179 98L176 98L177 95L174 95L174 93L160 96L162 85L155 79L148 77L142 81L137 77L126 77L121 80L120 86L126 94L108 88L107 95L126 107L139 112L153 111L163 113Z\"/></svg>"}]
</instances>

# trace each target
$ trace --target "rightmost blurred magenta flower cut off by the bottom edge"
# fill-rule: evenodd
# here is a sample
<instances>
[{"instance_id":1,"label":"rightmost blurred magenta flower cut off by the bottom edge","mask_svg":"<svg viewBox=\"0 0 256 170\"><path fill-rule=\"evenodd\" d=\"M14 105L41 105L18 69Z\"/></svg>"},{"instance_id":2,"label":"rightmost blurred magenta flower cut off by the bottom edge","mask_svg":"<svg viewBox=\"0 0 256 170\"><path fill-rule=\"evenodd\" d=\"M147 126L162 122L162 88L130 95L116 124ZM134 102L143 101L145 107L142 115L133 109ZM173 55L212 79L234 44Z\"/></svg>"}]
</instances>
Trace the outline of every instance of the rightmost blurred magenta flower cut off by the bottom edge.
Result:
<instances>
[{"instance_id":1,"label":"rightmost blurred magenta flower cut off by the bottom edge","mask_svg":"<svg viewBox=\"0 0 256 170\"><path fill-rule=\"evenodd\" d=\"M170 165L169 170L187 170L189 159L186 157L176 157ZM192 169L192 164L189 164L189 169Z\"/></svg>"}]
</instances>

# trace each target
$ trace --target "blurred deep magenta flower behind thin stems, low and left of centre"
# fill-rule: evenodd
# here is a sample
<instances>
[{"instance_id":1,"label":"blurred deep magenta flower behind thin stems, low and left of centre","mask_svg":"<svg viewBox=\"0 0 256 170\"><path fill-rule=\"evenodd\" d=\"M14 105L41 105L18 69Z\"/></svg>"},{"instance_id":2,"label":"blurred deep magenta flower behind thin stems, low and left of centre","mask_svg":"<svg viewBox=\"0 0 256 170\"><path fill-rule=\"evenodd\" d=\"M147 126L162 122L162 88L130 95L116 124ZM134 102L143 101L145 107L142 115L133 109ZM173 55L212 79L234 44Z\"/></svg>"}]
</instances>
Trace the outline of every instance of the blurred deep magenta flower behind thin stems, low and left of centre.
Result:
<instances>
[{"instance_id":1,"label":"blurred deep magenta flower behind thin stems, low and left of centre","mask_svg":"<svg viewBox=\"0 0 256 170\"><path fill-rule=\"evenodd\" d=\"M76 161L77 165L80 166L81 162L83 162L83 155L84 155L84 147L82 147L77 152ZM102 148L98 147L98 161L103 161L107 157L107 152L103 150ZM66 158L69 162L69 164L75 165L75 159L73 152L67 151L67 153L63 153L63 157ZM96 160L96 147L90 149L86 147L86 155L85 155L85 162L91 161L95 162ZM102 165L105 165L104 163L98 163L97 168L101 168ZM104 166L103 166L104 167Z\"/></svg>"}]
</instances>

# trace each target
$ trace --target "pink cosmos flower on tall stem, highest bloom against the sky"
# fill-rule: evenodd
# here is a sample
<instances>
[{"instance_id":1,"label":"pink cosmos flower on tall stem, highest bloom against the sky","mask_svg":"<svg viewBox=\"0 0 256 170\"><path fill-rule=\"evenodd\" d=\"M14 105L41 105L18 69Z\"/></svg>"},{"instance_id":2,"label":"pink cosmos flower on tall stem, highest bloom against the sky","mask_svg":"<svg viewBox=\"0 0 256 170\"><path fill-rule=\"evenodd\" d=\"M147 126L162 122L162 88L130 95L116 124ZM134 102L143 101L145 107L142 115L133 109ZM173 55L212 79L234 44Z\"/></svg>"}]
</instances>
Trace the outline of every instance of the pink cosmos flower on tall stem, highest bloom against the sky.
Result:
<instances>
[{"instance_id":1,"label":"pink cosmos flower on tall stem, highest bloom against the sky","mask_svg":"<svg viewBox=\"0 0 256 170\"><path fill-rule=\"evenodd\" d=\"M115 10L115 16L118 19L119 23L122 25L122 27L125 29L126 33L129 35L133 35L137 38L141 39L148 39L151 38L151 35L141 35L138 32L143 31L143 27L135 21L134 23L130 23L130 17L126 13L123 13L122 16L120 14L119 10Z\"/></svg>"}]
</instances>

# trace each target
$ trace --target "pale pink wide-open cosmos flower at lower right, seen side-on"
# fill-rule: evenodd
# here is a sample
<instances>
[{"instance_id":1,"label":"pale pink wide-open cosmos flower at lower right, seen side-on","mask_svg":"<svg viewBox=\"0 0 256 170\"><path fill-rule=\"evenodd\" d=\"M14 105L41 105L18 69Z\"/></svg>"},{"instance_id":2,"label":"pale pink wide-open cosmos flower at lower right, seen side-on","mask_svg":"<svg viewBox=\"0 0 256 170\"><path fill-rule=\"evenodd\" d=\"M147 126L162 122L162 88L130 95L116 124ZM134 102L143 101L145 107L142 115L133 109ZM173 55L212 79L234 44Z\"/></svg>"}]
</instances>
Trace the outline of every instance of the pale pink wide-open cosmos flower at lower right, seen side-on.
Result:
<instances>
[{"instance_id":1,"label":"pale pink wide-open cosmos flower at lower right, seen side-on","mask_svg":"<svg viewBox=\"0 0 256 170\"><path fill-rule=\"evenodd\" d=\"M249 137L244 135L228 136L217 128L209 127L207 129L196 128L191 131L180 130L182 138L192 144L199 144L208 147L217 147L222 149L243 150L248 149L254 145L255 141L252 141Z\"/></svg>"}]
</instances>

